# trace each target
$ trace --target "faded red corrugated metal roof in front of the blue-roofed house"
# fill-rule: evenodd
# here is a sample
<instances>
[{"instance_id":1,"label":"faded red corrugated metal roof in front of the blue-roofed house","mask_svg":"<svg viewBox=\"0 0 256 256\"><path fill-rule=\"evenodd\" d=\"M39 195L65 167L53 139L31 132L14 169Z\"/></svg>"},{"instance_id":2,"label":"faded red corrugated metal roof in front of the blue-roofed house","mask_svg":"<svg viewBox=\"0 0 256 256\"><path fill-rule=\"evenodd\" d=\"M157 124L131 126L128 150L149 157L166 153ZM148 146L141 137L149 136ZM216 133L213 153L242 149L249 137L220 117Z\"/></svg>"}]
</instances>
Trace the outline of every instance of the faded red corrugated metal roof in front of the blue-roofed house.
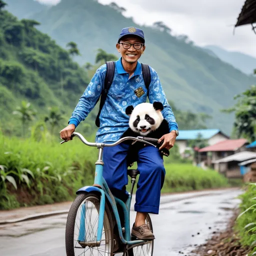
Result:
<instances>
[{"instance_id":1,"label":"faded red corrugated metal roof in front of the blue-roofed house","mask_svg":"<svg viewBox=\"0 0 256 256\"><path fill-rule=\"evenodd\" d=\"M217 142L214 145L205 146L198 150L198 152L208 152L208 151L235 151L247 141L245 138L239 139L225 139Z\"/></svg>"}]
</instances>

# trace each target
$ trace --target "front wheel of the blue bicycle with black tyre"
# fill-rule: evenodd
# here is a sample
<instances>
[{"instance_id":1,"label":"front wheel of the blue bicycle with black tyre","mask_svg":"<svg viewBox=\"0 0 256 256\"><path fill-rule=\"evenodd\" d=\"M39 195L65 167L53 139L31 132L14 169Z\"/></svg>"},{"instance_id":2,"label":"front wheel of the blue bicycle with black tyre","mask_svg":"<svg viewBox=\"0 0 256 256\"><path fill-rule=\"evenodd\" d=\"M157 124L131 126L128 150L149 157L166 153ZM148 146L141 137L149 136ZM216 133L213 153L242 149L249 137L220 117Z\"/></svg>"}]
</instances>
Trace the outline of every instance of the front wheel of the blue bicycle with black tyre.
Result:
<instances>
[{"instance_id":1,"label":"front wheel of the blue bicycle with black tyre","mask_svg":"<svg viewBox=\"0 0 256 256\"><path fill-rule=\"evenodd\" d=\"M109 255L113 253L113 223L105 203L102 238L96 244L100 196L81 193L73 201L66 220L65 245L67 256Z\"/></svg>"}]
</instances>

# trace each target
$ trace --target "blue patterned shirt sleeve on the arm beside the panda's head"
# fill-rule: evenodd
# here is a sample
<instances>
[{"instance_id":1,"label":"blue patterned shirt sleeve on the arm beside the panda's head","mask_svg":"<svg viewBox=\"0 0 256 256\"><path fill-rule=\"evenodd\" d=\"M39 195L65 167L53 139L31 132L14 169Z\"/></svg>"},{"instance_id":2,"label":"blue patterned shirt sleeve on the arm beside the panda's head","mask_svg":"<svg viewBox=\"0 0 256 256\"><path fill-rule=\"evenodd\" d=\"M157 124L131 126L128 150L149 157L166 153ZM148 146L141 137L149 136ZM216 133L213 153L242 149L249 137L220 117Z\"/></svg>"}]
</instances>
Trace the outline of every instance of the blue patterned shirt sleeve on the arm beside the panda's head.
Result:
<instances>
[{"instance_id":1,"label":"blue patterned shirt sleeve on the arm beside the panda's head","mask_svg":"<svg viewBox=\"0 0 256 256\"><path fill-rule=\"evenodd\" d=\"M159 76L153 69L152 69L151 74L153 74L153 75L152 75L151 82L148 87L149 102L150 103L153 103L154 101L161 102L163 104L162 115L163 115L163 118L165 118L168 122L169 131L177 130L178 125L177 125L175 116L173 114L173 111L171 109L171 106L169 105L169 103L166 99L165 93L162 89L162 85L160 83Z\"/></svg>"}]
</instances>

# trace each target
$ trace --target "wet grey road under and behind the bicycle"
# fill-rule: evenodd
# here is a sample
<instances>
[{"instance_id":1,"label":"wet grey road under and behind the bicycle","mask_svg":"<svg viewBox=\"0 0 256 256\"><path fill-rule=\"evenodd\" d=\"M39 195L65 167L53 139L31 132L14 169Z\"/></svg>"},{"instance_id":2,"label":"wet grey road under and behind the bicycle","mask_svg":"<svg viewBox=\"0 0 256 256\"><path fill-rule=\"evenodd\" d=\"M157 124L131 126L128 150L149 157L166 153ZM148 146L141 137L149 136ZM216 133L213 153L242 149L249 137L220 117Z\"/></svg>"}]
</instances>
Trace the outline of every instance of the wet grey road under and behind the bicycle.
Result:
<instances>
[{"instance_id":1,"label":"wet grey road under and behind the bicycle","mask_svg":"<svg viewBox=\"0 0 256 256\"><path fill-rule=\"evenodd\" d=\"M162 196L159 215L150 215L156 237L154 255L189 255L213 231L225 228L240 193L238 189L223 189ZM134 216L131 211L131 219ZM65 255L65 221L66 214L62 214L1 225L0 255Z\"/></svg>"}]
</instances>

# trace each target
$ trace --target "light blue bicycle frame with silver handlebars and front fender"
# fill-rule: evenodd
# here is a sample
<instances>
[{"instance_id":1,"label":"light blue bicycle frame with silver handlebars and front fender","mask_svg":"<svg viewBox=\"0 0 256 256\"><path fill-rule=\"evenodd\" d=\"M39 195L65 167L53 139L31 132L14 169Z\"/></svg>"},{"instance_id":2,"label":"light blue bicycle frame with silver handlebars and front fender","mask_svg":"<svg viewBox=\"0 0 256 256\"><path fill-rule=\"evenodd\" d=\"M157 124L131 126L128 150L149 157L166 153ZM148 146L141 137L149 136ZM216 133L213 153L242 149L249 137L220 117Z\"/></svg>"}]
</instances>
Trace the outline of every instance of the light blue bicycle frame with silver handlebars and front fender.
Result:
<instances>
[{"instance_id":1,"label":"light blue bicycle frame with silver handlebars and front fender","mask_svg":"<svg viewBox=\"0 0 256 256\"><path fill-rule=\"evenodd\" d=\"M105 208L105 197L107 198L107 200L109 201L111 208L113 210L114 213L114 217L117 223L117 227L118 227L118 233L119 233L119 238L121 240L121 242L123 244L127 244L129 245L127 249L133 247L134 245L138 245L140 244L144 244L147 243L148 241L144 241L144 240L131 240L131 236L130 236L130 220L129 220L129 214L130 214L130 204L131 204L131 198L132 198L132 191L134 188L134 184L135 184L135 178L132 177L131 178L131 190L129 192L128 198L126 200L126 202L124 203L122 200L116 198L113 196L113 194L111 193L105 179L102 176L102 172L103 172L103 161L102 161L102 154L103 154L103 147L104 146L114 146L126 139L132 139L132 140L137 140L137 141L141 141L141 142L145 142L147 144L153 145L154 144L150 143L151 142L155 142L154 138L147 138L148 141L144 140L144 137L124 137L119 139L118 141L116 141L115 143L112 144L105 144L105 143L91 143L88 142L80 133L78 132L73 132L72 133L72 137L73 136L77 136L84 144L89 145L89 146L96 146L99 149L99 153L98 153L98 159L95 162L95 176L94 176L94 184L92 186L84 186L81 187L80 189L78 189L76 191L76 194L79 193L83 193L83 192L91 192L91 191L95 191L95 192L99 192L101 194L100 196L100 203L99 203L99 218L98 218L98 229L97 229L97 237L96 237L96 241L95 242L90 242L91 246L99 246L100 242L101 242L101 236L102 236L102 230L103 230L103 219L104 219L104 208ZM157 139L156 139L157 141ZM60 144L62 144L63 142L66 142L66 140L63 140L60 142ZM120 217L118 214L118 210L117 210L117 204L119 204L123 210L124 213L124 235L123 235L123 230L121 227L121 221L120 221ZM81 216L85 216L85 205L83 205L81 207ZM80 229L79 229L79 234L78 234L78 240L80 241L84 241L86 239L85 237L86 232L85 232L85 219L81 218L80 221Z\"/></svg>"}]
</instances>

